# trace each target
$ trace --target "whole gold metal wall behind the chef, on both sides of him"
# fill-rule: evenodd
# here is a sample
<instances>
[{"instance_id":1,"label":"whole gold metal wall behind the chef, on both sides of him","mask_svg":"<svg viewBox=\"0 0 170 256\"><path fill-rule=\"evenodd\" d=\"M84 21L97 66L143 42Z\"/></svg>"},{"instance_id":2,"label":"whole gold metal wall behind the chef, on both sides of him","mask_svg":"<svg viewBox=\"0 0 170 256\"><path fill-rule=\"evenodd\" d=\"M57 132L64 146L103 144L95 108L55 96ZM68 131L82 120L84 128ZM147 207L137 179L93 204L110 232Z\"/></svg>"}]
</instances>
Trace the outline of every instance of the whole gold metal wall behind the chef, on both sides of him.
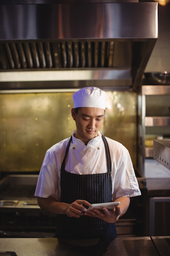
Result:
<instances>
[{"instance_id":1,"label":"whole gold metal wall behind the chef, on both sides of him","mask_svg":"<svg viewBox=\"0 0 170 256\"><path fill-rule=\"evenodd\" d=\"M136 163L136 94L106 92L101 132L130 151ZM39 171L46 150L71 136L72 92L0 94L0 171Z\"/></svg>"}]
</instances>

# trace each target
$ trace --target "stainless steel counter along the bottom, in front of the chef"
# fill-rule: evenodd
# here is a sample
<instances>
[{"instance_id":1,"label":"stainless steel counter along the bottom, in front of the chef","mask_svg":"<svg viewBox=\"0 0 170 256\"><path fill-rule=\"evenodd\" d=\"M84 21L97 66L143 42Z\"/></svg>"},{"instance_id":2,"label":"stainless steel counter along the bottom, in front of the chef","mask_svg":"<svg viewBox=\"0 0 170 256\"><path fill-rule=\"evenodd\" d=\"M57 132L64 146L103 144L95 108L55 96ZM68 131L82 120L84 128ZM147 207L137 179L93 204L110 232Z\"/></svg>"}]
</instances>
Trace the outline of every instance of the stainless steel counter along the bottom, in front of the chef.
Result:
<instances>
[{"instance_id":1,"label":"stainless steel counter along the bottom, in front of the chef","mask_svg":"<svg viewBox=\"0 0 170 256\"><path fill-rule=\"evenodd\" d=\"M170 237L169 237L170 238ZM169 239L168 238L168 239ZM165 239L165 238L164 238ZM115 240L74 240L70 243L57 238L0 238L0 252L15 252L18 256L168 256L170 247L165 249L162 241L159 251L150 237L122 237ZM159 243L160 244L160 243ZM163 247L163 254L161 254Z\"/></svg>"}]
</instances>

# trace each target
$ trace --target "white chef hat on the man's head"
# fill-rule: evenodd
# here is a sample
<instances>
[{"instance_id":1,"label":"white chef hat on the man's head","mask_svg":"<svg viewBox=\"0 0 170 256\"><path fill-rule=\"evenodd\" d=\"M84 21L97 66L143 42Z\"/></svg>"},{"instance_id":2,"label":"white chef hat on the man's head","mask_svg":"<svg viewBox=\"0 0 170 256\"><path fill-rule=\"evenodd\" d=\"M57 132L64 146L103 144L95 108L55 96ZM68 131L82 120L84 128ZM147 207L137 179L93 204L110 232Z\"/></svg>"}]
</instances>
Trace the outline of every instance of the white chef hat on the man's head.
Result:
<instances>
[{"instance_id":1,"label":"white chef hat on the man's head","mask_svg":"<svg viewBox=\"0 0 170 256\"><path fill-rule=\"evenodd\" d=\"M105 110L106 92L96 87L85 87L73 93L74 108L90 107Z\"/></svg>"}]
</instances>

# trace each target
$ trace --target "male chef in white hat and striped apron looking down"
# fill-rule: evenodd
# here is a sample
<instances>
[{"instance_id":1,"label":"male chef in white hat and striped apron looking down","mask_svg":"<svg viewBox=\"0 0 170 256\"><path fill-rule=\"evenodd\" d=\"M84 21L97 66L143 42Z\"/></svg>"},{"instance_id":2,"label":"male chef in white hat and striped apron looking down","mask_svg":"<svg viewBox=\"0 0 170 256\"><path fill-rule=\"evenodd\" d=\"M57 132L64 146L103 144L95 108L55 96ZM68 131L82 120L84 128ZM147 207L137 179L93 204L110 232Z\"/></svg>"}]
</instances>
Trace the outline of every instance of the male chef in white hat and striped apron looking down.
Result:
<instances>
[{"instance_id":1,"label":"male chef in white hat and striped apron looking down","mask_svg":"<svg viewBox=\"0 0 170 256\"><path fill-rule=\"evenodd\" d=\"M115 222L127 211L130 197L141 195L128 150L104 137L106 92L95 87L73 94L71 115L76 130L46 151L35 196L39 206L57 215L55 237L115 238ZM87 212L94 203L116 202Z\"/></svg>"}]
</instances>

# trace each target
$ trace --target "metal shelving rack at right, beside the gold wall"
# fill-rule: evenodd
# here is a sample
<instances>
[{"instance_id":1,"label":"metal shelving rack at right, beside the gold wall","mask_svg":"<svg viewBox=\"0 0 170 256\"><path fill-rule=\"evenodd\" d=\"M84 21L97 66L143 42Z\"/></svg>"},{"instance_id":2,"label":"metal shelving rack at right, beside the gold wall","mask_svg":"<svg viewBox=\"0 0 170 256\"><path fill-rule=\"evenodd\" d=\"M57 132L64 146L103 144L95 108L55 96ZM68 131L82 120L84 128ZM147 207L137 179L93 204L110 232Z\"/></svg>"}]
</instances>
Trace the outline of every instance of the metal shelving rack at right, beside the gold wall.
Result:
<instances>
[{"instance_id":1,"label":"metal shelving rack at right, beside the gold wall","mask_svg":"<svg viewBox=\"0 0 170 256\"><path fill-rule=\"evenodd\" d=\"M170 85L142 85L137 97L137 106L139 175L147 178L151 174L146 161L155 161L153 159L154 139L169 139L170 137ZM148 141L148 137L153 138ZM152 175L156 178L160 174L152 171ZM167 176L166 171L162 171L161 177Z\"/></svg>"}]
</instances>

